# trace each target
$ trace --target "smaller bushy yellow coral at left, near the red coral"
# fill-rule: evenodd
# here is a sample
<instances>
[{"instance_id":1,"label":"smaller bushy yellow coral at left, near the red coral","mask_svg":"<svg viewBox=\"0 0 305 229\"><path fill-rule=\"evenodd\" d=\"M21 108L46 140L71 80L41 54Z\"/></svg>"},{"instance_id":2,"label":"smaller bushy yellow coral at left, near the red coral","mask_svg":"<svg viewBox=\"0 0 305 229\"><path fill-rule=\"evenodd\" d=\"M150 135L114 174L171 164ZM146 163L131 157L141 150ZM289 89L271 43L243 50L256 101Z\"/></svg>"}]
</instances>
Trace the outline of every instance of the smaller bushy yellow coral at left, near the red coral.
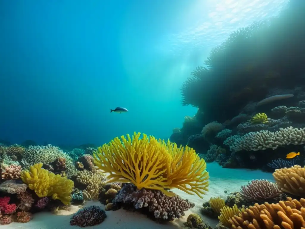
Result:
<instances>
[{"instance_id":1,"label":"smaller bushy yellow coral at left, near the red coral","mask_svg":"<svg viewBox=\"0 0 305 229\"><path fill-rule=\"evenodd\" d=\"M42 165L42 163L37 163L30 166L29 171L23 170L21 172L23 183L34 190L38 197L52 196L54 200L58 199L65 205L69 204L74 182L42 169Z\"/></svg>"}]
</instances>

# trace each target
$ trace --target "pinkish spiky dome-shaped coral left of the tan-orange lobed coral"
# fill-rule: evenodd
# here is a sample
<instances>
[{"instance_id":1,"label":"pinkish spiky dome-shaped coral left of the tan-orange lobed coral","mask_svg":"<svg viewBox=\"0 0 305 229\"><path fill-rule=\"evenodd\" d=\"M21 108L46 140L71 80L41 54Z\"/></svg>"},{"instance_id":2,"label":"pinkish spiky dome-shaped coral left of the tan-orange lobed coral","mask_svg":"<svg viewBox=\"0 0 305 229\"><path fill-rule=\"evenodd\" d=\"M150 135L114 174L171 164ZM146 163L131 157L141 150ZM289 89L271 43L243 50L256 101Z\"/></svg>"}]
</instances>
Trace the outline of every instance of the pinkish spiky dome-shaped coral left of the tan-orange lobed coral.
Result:
<instances>
[{"instance_id":1,"label":"pinkish spiky dome-shaped coral left of the tan-orange lobed coral","mask_svg":"<svg viewBox=\"0 0 305 229\"><path fill-rule=\"evenodd\" d=\"M281 190L277 184L262 179L252 180L247 186L242 186L240 194L242 198L255 202L278 197Z\"/></svg>"}]
</instances>

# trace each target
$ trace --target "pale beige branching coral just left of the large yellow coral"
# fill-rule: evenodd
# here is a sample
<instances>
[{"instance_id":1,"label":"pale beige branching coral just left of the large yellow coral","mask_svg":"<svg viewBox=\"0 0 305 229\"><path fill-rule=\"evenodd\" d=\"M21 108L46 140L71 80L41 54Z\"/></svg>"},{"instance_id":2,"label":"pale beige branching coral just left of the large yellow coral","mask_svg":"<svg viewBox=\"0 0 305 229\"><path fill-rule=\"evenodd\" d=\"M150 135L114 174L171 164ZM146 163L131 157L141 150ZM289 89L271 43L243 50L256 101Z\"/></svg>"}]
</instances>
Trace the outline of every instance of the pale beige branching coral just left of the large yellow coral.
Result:
<instances>
[{"instance_id":1,"label":"pale beige branching coral just left of the large yellow coral","mask_svg":"<svg viewBox=\"0 0 305 229\"><path fill-rule=\"evenodd\" d=\"M83 190L84 199L96 200L99 197L102 186L105 185L106 176L102 173L83 170L78 173L77 181L87 185L86 189Z\"/></svg>"}]
</instances>

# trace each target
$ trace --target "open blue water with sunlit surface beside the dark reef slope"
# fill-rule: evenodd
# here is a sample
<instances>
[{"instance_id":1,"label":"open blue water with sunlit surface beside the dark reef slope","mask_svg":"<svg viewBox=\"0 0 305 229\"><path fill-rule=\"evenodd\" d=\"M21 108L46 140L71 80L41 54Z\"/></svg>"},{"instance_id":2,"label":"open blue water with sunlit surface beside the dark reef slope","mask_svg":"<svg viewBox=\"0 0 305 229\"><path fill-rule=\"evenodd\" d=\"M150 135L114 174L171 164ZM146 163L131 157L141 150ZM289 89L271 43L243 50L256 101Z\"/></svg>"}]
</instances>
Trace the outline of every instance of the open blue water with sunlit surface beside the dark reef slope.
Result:
<instances>
[{"instance_id":1,"label":"open blue water with sunlit surface beside the dark reef slope","mask_svg":"<svg viewBox=\"0 0 305 229\"><path fill-rule=\"evenodd\" d=\"M180 102L189 73L230 32L285 2L1 1L0 139L167 139L196 113ZM110 114L117 106L129 112Z\"/></svg>"}]
</instances>

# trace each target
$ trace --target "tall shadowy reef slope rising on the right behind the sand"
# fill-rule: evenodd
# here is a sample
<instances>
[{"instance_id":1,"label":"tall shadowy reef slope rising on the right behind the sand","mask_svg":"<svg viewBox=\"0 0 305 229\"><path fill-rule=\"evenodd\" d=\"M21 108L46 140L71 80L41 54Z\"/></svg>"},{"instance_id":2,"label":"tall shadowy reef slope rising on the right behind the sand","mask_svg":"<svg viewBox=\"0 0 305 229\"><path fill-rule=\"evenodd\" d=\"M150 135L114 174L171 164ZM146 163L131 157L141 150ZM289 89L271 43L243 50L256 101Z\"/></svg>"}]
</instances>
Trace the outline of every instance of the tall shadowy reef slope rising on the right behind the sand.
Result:
<instances>
[{"instance_id":1,"label":"tall shadowy reef slope rising on the right behind the sand","mask_svg":"<svg viewBox=\"0 0 305 229\"><path fill-rule=\"evenodd\" d=\"M277 18L233 32L213 49L207 67L198 67L182 87L183 104L198 112L185 117L170 140L227 168L272 172L303 165L304 8L291 0ZM286 159L293 151L300 156Z\"/></svg>"}]
</instances>

